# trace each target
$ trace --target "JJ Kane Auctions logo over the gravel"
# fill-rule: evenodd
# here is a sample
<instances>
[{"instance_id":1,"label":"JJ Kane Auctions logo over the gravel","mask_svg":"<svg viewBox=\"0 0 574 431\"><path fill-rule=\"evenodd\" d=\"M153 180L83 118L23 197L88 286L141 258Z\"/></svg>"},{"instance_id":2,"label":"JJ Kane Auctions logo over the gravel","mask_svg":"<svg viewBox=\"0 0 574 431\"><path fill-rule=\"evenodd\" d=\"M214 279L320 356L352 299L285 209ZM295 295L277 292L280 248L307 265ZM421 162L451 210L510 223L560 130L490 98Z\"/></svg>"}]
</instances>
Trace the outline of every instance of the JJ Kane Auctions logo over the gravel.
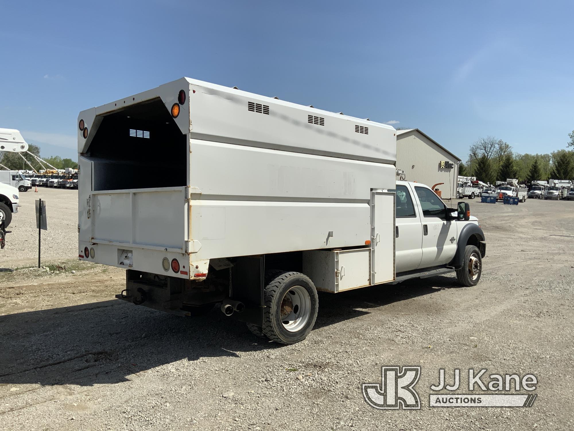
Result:
<instances>
[{"instance_id":1,"label":"JJ Kane Auctions logo over the gravel","mask_svg":"<svg viewBox=\"0 0 574 431\"><path fill-rule=\"evenodd\" d=\"M486 368L468 370L467 394L453 394L461 388L459 368L447 382L444 368L439 370L439 381L430 386L429 407L530 407L537 395L538 380L533 374L490 374ZM381 367L381 383L363 383L363 397L375 409L420 409L421 401L414 386L421 375L420 366ZM480 392L475 392L480 391ZM500 393L500 392L513 393ZM516 393L527 391L526 393ZM489 393L490 392L490 393ZM495 393L492 393L495 392Z\"/></svg>"}]
</instances>

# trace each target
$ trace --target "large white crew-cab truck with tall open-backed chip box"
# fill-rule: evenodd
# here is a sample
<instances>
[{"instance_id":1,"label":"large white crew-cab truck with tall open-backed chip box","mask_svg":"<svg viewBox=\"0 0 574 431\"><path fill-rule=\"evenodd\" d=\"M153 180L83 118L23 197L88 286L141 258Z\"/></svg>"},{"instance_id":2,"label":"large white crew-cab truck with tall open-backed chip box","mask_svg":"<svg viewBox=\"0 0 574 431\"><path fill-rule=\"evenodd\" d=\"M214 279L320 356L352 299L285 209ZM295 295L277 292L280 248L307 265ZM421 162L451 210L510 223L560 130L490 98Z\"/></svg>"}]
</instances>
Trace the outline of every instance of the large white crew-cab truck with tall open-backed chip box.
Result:
<instances>
[{"instance_id":1,"label":"large white crew-cab truck with tall open-backed chip box","mask_svg":"<svg viewBox=\"0 0 574 431\"><path fill-rule=\"evenodd\" d=\"M188 78L77 120L79 259L126 268L125 301L180 315L220 303L292 344L317 290L479 282L468 203L397 182L389 125Z\"/></svg>"}]
</instances>

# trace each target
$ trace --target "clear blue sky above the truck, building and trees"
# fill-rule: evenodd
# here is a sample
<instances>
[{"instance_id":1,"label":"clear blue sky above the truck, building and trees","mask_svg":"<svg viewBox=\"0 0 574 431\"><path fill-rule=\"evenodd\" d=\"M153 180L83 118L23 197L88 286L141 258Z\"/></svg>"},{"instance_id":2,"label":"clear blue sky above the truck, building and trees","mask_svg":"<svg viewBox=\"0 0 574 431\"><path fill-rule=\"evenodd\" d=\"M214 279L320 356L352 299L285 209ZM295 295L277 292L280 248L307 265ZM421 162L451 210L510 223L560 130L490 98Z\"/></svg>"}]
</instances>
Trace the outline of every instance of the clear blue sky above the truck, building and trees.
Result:
<instances>
[{"instance_id":1,"label":"clear blue sky above the truck, building and trees","mask_svg":"<svg viewBox=\"0 0 574 431\"><path fill-rule=\"evenodd\" d=\"M550 152L574 129L573 12L528 1L0 0L0 127L77 160L80 110L189 76L417 127L463 160L487 135Z\"/></svg>"}]
</instances>

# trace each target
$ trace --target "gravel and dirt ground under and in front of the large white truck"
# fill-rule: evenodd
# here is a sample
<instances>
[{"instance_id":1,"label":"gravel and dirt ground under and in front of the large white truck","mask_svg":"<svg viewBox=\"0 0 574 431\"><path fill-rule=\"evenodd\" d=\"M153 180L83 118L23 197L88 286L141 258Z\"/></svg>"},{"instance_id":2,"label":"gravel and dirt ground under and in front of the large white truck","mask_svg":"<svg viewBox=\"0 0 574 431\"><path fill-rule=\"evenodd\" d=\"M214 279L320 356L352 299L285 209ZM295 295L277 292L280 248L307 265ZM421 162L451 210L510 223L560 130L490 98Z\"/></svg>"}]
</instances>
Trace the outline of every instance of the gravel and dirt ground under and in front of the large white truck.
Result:
<instances>
[{"instance_id":1,"label":"gravel and dirt ground under and in front of the large white truck","mask_svg":"<svg viewBox=\"0 0 574 431\"><path fill-rule=\"evenodd\" d=\"M574 203L470 202L487 237L478 286L439 276L324 294L292 346L217 310L185 319L115 300L115 268L0 278L0 429L572 430ZM381 365L421 365L421 410L367 405L360 385ZM430 408L441 367L532 373L538 398Z\"/></svg>"}]
</instances>

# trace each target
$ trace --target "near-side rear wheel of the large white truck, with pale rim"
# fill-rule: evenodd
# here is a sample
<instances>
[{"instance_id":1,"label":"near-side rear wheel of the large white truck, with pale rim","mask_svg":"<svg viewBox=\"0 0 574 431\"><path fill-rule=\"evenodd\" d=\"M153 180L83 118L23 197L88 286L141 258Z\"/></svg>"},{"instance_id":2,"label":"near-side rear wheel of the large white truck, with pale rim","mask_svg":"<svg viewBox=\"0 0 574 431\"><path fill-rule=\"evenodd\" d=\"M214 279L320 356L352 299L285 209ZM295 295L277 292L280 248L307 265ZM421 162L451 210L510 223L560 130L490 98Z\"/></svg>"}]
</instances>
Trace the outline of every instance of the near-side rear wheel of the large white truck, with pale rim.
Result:
<instances>
[{"instance_id":1,"label":"near-side rear wheel of the large white truck, with pale rim","mask_svg":"<svg viewBox=\"0 0 574 431\"><path fill-rule=\"evenodd\" d=\"M281 344L298 343L313 329L319 310L319 298L315 284L307 275L300 272L282 272L276 275L265 286L263 299L265 313L261 329L270 340ZM292 307L290 310L289 303ZM282 316L281 310L284 309L285 312L285 308L289 314ZM296 319L282 320L286 317Z\"/></svg>"}]
</instances>

